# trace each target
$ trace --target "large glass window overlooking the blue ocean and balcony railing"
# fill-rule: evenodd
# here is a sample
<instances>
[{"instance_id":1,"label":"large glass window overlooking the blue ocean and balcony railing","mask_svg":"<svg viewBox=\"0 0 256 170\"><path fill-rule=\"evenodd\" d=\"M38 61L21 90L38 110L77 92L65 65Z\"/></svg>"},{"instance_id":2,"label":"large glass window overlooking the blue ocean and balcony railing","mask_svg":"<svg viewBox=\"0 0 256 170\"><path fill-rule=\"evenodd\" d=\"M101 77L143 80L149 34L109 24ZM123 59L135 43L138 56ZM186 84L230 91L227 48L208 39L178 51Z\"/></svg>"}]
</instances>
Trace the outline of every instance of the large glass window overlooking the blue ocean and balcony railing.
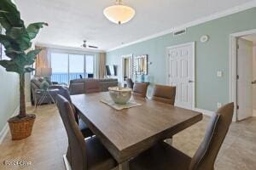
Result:
<instances>
[{"instance_id":1,"label":"large glass window overlooking the blue ocean and balcony railing","mask_svg":"<svg viewBox=\"0 0 256 170\"><path fill-rule=\"evenodd\" d=\"M95 56L87 54L51 53L52 82L95 77Z\"/></svg>"}]
</instances>

